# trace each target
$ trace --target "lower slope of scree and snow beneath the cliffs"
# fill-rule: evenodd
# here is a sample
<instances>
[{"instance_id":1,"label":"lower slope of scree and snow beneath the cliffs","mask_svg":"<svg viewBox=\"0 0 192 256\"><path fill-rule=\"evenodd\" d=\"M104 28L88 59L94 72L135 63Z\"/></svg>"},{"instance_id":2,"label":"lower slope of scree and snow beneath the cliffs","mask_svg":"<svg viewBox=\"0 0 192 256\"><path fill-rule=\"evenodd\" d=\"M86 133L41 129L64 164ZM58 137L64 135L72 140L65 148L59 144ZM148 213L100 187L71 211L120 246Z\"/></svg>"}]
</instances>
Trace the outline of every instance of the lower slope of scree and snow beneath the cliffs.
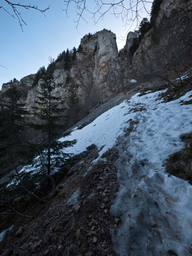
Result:
<instances>
[{"instance_id":1,"label":"lower slope of scree and snow beneath the cliffs","mask_svg":"<svg viewBox=\"0 0 192 256\"><path fill-rule=\"evenodd\" d=\"M183 83L188 80L184 75ZM1 254L190 255L188 174L171 176L165 164L192 132L192 91L175 91L176 99L167 101L170 90L131 98L128 92L126 101L74 129L68 139L78 143L69 152L78 155L67 177L56 195L22 213L0 244ZM191 159L188 153L189 173Z\"/></svg>"}]
</instances>

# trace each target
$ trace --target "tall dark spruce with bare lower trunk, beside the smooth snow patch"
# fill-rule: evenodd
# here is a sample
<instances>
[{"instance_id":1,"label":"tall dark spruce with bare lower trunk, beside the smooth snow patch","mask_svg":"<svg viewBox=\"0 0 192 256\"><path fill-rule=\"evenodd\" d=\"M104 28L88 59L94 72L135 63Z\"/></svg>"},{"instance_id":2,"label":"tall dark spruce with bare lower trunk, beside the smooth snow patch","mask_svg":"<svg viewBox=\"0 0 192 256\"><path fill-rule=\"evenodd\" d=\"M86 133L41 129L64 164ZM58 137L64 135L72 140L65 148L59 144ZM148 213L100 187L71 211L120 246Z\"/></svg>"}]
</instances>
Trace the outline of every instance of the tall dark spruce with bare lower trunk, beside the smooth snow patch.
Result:
<instances>
[{"instance_id":1,"label":"tall dark spruce with bare lower trunk, beside the smooth snow patch","mask_svg":"<svg viewBox=\"0 0 192 256\"><path fill-rule=\"evenodd\" d=\"M34 108L35 115L41 123L31 124L34 130L42 133L42 139L30 144L32 152L36 152L29 159L33 167L40 167L43 173L51 178L54 186L53 178L50 176L57 168L61 167L69 154L64 153L63 149L72 147L75 141L57 141L64 127L60 123L63 116L61 113L65 110L61 108L63 101L61 97L54 96L56 86L55 77L52 73L44 75L39 86L37 96L37 107ZM66 134L65 136L67 136Z\"/></svg>"}]
</instances>

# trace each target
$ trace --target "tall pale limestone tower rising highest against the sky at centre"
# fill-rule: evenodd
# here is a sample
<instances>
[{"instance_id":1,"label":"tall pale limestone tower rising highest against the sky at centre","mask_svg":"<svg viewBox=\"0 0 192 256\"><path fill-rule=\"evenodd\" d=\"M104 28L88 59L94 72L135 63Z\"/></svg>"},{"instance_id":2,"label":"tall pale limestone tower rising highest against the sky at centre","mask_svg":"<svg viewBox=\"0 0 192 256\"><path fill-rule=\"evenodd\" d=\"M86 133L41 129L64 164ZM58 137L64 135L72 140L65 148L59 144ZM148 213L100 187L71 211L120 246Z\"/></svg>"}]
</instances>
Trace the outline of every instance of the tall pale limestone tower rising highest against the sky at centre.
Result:
<instances>
[{"instance_id":1,"label":"tall pale limestone tower rising highest against the sky at centre","mask_svg":"<svg viewBox=\"0 0 192 256\"><path fill-rule=\"evenodd\" d=\"M88 72L83 72L86 82L91 83L89 86L90 96L103 98L111 94L110 86L108 84L108 75L110 67L118 56L118 48L116 43L116 36L108 30L102 30L94 35L84 36L81 40L83 48L82 62L85 62L85 68L91 67L91 80Z\"/></svg>"}]
</instances>

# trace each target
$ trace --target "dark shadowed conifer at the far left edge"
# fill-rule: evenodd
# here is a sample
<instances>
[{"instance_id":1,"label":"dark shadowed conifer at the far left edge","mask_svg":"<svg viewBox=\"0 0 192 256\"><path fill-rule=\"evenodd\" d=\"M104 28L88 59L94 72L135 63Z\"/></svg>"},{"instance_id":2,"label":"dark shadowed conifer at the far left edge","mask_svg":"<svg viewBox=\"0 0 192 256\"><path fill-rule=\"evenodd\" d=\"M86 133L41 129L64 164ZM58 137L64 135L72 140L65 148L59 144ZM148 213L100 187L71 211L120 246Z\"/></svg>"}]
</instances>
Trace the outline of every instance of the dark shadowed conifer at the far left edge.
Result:
<instances>
[{"instance_id":1,"label":"dark shadowed conifer at the far left edge","mask_svg":"<svg viewBox=\"0 0 192 256\"><path fill-rule=\"evenodd\" d=\"M18 149L24 138L25 115L28 114L20 97L18 88L11 84L1 103L0 156L9 160L10 165L18 158Z\"/></svg>"}]
</instances>

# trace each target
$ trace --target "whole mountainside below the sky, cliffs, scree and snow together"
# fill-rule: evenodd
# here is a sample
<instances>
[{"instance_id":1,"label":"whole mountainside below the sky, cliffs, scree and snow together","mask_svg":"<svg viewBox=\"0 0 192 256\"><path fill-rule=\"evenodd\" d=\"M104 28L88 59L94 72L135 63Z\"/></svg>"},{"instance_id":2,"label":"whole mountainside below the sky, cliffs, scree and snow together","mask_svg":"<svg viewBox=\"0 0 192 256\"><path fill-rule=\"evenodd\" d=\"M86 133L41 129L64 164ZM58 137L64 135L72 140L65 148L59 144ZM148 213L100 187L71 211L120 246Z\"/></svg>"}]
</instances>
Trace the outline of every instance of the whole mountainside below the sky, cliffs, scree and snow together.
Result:
<instances>
[{"instance_id":1,"label":"whole mountainside below the sky, cliffs, scree and snow together","mask_svg":"<svg viewBox=\"0 0 192 256\"><path fill-rule=\"evenodd\" d=\"M70 61L62 53L50 63L53 102L66 101L74 83L84 118L34 154L27 144L36 165L5 159L14 170L0 172L1 255L192 254L191 8L191 1L159 1L143 22L147 30L130 32L119 53L115 34L104 29L84 36ZM15 85L33 113L42 79L14 79L0 97ZM51 143L67 139L77 143L46 156ZM48 162L62 153L73 156L49 175Z\"/></svg>"}]
</instances>

